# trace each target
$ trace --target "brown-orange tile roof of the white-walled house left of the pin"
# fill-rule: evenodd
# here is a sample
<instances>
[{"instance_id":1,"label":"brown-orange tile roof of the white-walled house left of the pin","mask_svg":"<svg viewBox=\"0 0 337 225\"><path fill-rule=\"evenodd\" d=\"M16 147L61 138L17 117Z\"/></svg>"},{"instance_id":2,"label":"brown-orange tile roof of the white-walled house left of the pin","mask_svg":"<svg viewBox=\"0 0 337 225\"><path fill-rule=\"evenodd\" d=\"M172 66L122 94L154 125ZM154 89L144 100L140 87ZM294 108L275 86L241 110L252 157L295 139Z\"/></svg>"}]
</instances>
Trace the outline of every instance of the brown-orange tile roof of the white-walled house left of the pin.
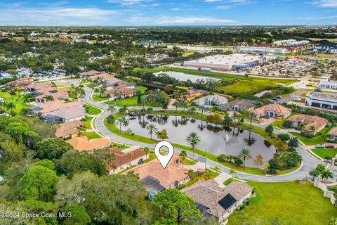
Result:
<instances>
[{"instance_id":1,"label":"brown-orange tile roof of the white-walled house left of the pin","mask_svg":"<svg viewBox=\"0 0 337 225\"><path fill-rule=\"evenodd\" d=\"M120 167L121 165L125 165L128 162L131 162L146 155L146 153L140 148L131 150L128 153L124 153L118 148L110 148L110 152L114 153L114 155L116 156L116 158L113 161L114 167ZM111 170L112 169L111 165L108 165L107 169Z\"/></svg>"}]
</instances>

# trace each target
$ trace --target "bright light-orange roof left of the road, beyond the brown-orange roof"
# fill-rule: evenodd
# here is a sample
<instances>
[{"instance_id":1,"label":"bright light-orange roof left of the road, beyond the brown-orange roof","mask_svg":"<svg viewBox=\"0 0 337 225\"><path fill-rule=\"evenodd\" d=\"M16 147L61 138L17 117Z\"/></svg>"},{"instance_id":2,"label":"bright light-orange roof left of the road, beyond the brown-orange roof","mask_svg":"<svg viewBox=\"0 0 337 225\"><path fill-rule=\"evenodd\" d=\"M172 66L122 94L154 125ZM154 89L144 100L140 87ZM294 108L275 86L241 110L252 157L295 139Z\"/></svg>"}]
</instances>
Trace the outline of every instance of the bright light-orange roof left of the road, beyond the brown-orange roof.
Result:
<instances>
[{"instance_id":1,"label":"bright light-orange roof left of the road, beyond the brown-orange roof","mask_svg":"<svg viewBox=\"0 0 337 225\"><path fill-rule=\"evenodd\" d=\"M105 148L110 145L111 141L109 139L100 138L100 139L91 139L88 140L86 136L77 137L66 141L70 143L74 149L79 151L86 150L91 151L95 149Z\"/></svg>"}]
</instances>

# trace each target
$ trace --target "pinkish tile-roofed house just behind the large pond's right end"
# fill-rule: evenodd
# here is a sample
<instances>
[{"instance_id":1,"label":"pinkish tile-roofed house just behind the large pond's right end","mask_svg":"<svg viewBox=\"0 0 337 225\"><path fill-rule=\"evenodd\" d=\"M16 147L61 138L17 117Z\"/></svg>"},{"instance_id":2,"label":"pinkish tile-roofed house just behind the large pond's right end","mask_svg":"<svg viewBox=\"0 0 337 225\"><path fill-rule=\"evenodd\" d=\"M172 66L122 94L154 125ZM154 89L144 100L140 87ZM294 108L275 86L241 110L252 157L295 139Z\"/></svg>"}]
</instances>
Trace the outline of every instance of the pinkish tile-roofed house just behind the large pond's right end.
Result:
<instances>
[{"instance_id":1,"label":"pinkish tile-roofed house just behind the large pond's right end","mask_svg":"<svg viewBox=\"0 0 337 225\"><path fill-rule=\"evenodd\" d=\"M291 114L291 109L278 104L269 104L264 105L260 108L256 108L251 112L253 112L257 118L263 116L285 118L289 117L289 115Z\"/></svg>"}]
</instances>

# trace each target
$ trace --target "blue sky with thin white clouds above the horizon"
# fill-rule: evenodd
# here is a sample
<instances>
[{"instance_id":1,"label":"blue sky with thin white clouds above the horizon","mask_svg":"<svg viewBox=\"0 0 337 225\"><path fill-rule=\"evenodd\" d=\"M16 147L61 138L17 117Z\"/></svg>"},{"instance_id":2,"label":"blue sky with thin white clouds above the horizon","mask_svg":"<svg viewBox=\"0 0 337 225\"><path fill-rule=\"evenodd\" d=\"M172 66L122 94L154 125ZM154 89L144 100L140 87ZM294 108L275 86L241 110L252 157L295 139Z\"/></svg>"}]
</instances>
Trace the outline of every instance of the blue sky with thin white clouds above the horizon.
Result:
<instances>
[{"instance_id":1,"label":"blue sky with thin white clouds above the horizon","mask_svg":"<svg viewBox=\"0 0 337 225\"><path fill-rule=\"evenodd\" d=\"M337 0L0 1L0 25L331 25Z\"/></svg>"}]
</instances>

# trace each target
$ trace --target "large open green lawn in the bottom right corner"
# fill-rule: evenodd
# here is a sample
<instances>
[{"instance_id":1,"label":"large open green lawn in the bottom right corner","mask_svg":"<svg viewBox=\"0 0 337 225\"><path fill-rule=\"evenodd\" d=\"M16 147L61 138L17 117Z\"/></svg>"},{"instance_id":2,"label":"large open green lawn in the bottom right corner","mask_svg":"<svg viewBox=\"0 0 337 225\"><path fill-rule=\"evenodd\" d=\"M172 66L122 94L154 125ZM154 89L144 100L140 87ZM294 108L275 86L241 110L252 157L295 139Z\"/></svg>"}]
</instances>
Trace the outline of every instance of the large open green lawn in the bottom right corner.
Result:
<instances>
[{"instance_id":1,"label":"large open green lawn in the bottom right corner","mask_svg":"<svg viewBox=\"0 0 337 225\"><path fill-rule=\"evenodd\" d=\"M263 225L272 224L272 219L279 219L282 224L322 225L331 217L336 217L337 209L329 198L312 183L299 181L282 183L260 183L248 181L256 188L256 198L244 210L237 211L229 218L229 225L254 224L253 219L262 219Z\"/></svg>"}]
</instances>

